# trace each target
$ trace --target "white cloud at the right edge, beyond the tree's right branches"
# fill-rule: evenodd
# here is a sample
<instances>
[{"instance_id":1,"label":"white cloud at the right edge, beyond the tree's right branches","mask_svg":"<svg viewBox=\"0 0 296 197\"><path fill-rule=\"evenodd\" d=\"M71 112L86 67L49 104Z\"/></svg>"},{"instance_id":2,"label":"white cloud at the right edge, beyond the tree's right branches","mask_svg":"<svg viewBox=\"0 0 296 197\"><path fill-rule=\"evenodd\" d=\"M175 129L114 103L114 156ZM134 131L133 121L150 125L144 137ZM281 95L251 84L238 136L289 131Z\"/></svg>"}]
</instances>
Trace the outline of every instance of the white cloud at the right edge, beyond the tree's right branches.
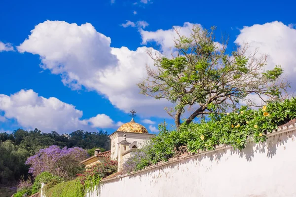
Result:
<instances>
[{"instance_id":1,"label":"white cloud at the right edge, beyond the tree's right branches","mask_svg":"<svg viewBox=\"0 0 296 197\"><path fill-rule=\"evenodd\" d=\"M263 25L253 25L240 30L235 43L241 45L247 42L252 53L258 49L258 56L268 54L266 69L273 69L275 65L281 65L284 69L284 77L292 82L292 88L296 87L296 29L292 25L287 26L282 22L274 21Z\"/></svg>"}]
</instances>

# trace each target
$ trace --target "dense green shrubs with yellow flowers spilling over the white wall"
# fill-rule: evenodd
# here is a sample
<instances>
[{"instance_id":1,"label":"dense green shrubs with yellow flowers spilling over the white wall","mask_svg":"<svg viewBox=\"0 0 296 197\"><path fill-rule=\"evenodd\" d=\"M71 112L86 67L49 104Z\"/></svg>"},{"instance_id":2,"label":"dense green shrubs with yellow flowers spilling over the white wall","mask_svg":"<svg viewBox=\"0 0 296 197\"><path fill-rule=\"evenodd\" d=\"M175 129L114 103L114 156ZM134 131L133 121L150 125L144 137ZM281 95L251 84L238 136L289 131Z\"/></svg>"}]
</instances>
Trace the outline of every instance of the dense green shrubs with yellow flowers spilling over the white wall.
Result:
<instances>
[{"instance_id":1,"label":"dense green shrubs with yellow flowers spilling over the white wall","mask_svg":"<svg viewBox=\"0 0 296 197\"><path fill-rule=\"evenodd\" d=\"M217 106L211 105L211 108L215 111ZM296 99L292 98L269 103L258 110L242 106L227 114L213 113L200 123L182 124L180 131L168 131L165 125L160 125L160 133L141 149L142 158L137 160L133 170L141 170L185 152L214 150L220 144L242 150L248 139L264 142L268 132L294 118Z\"/></svg>"}]
</instances>

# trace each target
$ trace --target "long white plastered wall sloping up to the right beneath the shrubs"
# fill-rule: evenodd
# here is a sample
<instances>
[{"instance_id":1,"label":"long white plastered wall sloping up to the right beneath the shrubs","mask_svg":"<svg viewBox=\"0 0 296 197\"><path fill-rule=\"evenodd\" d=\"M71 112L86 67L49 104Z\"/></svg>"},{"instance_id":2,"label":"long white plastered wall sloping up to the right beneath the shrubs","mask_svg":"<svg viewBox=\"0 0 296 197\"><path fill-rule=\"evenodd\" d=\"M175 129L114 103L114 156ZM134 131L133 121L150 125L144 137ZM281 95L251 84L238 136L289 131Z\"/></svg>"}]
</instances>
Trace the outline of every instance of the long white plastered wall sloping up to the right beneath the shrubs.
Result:
<instances>
[{"instance_id":1,"label":"long white plastered wall sloping up to the right beneath the shrubs","mask_svg":"<svg viewBox=\"0 0 296 197\"><path fill-rule=\"evenodd\" d=\"M89 197L296 197L295 127L102 181Z\"/></svg>"}]
</instances>

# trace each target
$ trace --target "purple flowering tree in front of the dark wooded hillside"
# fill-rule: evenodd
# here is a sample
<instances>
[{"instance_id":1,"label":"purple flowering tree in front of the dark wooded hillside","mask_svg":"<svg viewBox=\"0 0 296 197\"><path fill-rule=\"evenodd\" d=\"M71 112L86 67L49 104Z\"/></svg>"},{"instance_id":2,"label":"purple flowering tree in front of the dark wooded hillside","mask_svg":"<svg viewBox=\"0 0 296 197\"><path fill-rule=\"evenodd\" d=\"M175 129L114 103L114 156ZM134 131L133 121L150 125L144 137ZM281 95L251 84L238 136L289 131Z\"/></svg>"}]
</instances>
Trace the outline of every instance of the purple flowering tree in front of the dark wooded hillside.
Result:
<instances>
[{"instance_id":1,"label":"purple flowering tree in front of the dark wooded hillside","mask_svg":"<svg viewBox=\"0 0 296 197\"><path fill-rule=\"evenodd\" d=\"M36 177L47 171L59 177L73 177L79 173L83 166L80 161L88 157L87 151L82 148L63 148L53 145L40 149L36 155L27 159L26 164L31 165L29 173Z\"/></svg>"}]
</instances>

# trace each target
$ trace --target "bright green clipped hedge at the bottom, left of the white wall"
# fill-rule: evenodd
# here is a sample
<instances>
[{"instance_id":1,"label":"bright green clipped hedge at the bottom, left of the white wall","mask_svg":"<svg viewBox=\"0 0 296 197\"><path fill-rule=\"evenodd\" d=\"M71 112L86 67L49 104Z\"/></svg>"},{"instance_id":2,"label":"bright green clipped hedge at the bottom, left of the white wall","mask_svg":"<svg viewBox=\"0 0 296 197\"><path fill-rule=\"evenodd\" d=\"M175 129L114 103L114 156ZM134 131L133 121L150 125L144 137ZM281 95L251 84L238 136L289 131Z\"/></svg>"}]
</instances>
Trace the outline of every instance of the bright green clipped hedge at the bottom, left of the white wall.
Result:
<instances>
[{"instance_id":1,"label":"bright green clipped hedge at the bottom, left of the white wall","mask_svg":"<svg viewBox=\"0 0 296 197\"><path fill-rule=\"evenodd\" d=\"M44 191L46 197L84 197L83 185L78 178L59 183L49 189L44 188Z\"/></svg>"}]
</instances>

